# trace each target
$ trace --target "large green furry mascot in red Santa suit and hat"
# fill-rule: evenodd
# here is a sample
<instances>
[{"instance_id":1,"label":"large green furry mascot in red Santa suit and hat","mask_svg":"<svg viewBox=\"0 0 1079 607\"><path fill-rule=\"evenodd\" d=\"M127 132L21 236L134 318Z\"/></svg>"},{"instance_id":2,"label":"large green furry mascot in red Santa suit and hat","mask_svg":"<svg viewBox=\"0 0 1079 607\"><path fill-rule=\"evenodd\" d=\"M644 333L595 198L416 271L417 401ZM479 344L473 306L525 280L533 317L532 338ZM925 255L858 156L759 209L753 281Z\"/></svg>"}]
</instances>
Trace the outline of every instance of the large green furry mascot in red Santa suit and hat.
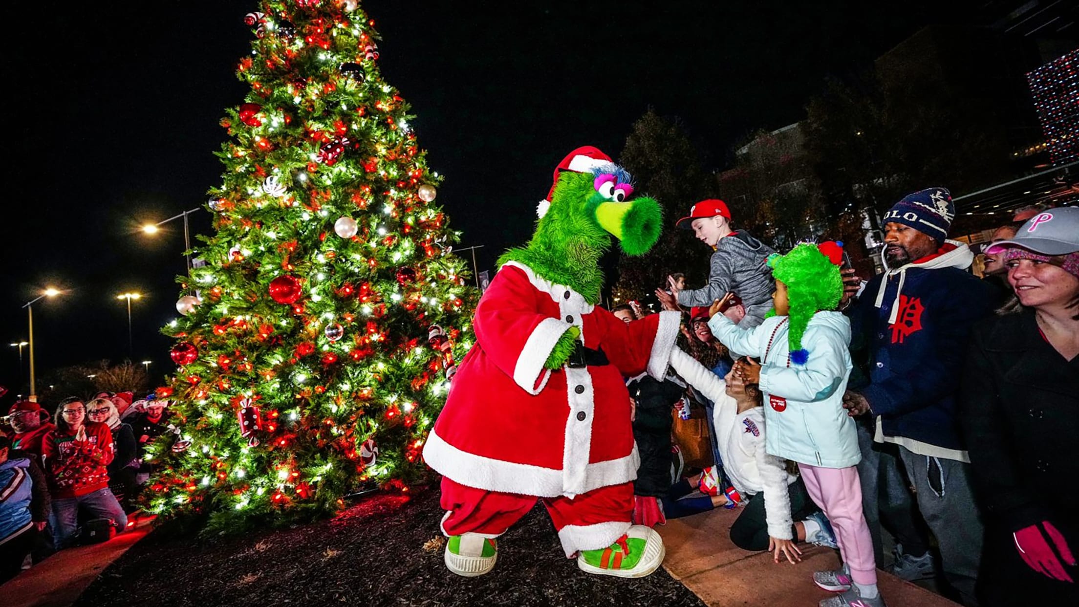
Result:
<instances>
[{"instance_id":1,"label":"large green furry mascot in red Santa suit and hat","mask_svg":"<svg viewBox=\"0 0 1079 607\"><path fill-rule=\"evenodd\" d=\"M454 574L490 571L495 538L537 499L581 569L639 578L663 563L659 535L630 523L640 459L623 376L666 376L679 313L627 325L597 306L611 237L629 255L659 238L659 205L630 183L593 147L565 157L535 234L503 255L476 308L476 345L423 451L443 476Z\"/></svg>"}]
</instances>

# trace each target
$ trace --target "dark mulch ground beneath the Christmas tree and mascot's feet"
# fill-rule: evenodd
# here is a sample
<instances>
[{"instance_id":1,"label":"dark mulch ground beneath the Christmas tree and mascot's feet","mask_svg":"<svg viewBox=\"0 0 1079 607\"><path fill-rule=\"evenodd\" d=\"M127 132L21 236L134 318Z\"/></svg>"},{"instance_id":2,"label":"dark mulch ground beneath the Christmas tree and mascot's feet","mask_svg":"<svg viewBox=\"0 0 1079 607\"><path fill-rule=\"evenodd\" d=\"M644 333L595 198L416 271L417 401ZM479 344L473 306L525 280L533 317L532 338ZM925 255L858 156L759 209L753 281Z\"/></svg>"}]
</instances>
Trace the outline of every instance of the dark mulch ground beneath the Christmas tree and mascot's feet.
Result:
<instances>
[{"instance_id":1,"label":"dark mulch ground beneath the Christmas tree and mascot's feet","mask_svg":"<svg viewBox=\"0 0 1079 607\"><path fill-rule=\"evenodd\" d=\"M76 605L704 605L663 568L639 580L581 571L541 504L500 538L494 571L455 576L442 563L437 485L416 489L292 529L210 538L155 530Z\"/></svg>"}]
</instances>

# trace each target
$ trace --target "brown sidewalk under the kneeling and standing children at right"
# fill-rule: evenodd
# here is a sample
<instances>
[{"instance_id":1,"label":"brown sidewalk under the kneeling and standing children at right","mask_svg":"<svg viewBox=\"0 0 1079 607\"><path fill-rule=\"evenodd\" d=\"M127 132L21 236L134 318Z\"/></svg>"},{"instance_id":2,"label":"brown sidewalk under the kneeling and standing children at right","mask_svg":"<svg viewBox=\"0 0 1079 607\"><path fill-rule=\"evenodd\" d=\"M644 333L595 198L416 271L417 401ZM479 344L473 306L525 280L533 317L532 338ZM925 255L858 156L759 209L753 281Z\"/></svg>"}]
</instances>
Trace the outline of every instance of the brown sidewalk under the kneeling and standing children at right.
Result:
<instances>
[{"instance_id":1,"label":"brown sidewalk under the kneeling and standing children at right","mask_svg":"<svg viewBox=\"0 0 1079 607\"><path fill-rule=\"evenodd\" d=\"M708 605L734 607L815 606L832 594L812 583L812 572L839 566L834 550L798 544L802 563L773 562L770 553L747 552L730 541L737 510L713 510L656 527L667 547L664 568ZM956 607L956 604L878 570L888 607Z\"/></svg>"}]
</instances>

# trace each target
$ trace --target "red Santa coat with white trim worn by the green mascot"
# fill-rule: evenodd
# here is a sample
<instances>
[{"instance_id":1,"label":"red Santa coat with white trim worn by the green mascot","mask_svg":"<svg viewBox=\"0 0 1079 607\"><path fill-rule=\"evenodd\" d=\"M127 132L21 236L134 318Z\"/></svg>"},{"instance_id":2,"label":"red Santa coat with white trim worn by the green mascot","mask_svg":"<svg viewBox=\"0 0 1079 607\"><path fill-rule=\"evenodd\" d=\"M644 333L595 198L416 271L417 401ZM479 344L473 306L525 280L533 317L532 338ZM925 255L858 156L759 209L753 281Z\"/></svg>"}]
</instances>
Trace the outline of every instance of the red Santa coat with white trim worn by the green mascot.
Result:
<instances>
[{"instance_id":1,"label":"red Santa coat with white trim worn by the green mascot","mask_svg":"<svg viewBox=\"0 0 1079 607\"><path fill-rule=\"evenodd\" d=\"M424 459L462 485L537 497L632 481L640 458L623 376L647 370L661 379L680 320L660 312L627 325L572 288L506 264L476 308L476 345L453 377ZM611 364L545 369L570 325Z\"/></svg>"}]
</instances>

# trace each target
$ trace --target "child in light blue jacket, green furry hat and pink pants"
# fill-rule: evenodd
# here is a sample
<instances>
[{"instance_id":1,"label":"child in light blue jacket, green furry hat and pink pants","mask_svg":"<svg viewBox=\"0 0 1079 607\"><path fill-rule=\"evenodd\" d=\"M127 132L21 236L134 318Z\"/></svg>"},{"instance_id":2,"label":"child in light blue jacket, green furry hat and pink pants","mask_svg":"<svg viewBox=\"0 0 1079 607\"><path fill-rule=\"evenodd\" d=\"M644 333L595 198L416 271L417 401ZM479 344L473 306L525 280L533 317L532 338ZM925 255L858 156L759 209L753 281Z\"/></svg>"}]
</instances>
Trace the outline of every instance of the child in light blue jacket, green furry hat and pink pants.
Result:
<instances>
[{"instance_id":1,"label":"child in light blue jacket, green furry hat and pink pants","mask_svg":"<svg viewBox=\"0 0 1079 607\"><path fill-rule=\"evenodd\" d=\"M764 323L742 329L723 314L708 326L728 349L761 359L736 373L764 392L765 449L795 461L809 496L831 521L843 569L817 571L820 588L837 592L821 607L883 606L862 491L853 420L843 408L850 376L850 323L832 311L843 296L842 243L804 243L768 259L775 308ZM716 302L722 305L722 300ZM719 306L713 305L713 308Z\"/></svg>"}]
</instances>

